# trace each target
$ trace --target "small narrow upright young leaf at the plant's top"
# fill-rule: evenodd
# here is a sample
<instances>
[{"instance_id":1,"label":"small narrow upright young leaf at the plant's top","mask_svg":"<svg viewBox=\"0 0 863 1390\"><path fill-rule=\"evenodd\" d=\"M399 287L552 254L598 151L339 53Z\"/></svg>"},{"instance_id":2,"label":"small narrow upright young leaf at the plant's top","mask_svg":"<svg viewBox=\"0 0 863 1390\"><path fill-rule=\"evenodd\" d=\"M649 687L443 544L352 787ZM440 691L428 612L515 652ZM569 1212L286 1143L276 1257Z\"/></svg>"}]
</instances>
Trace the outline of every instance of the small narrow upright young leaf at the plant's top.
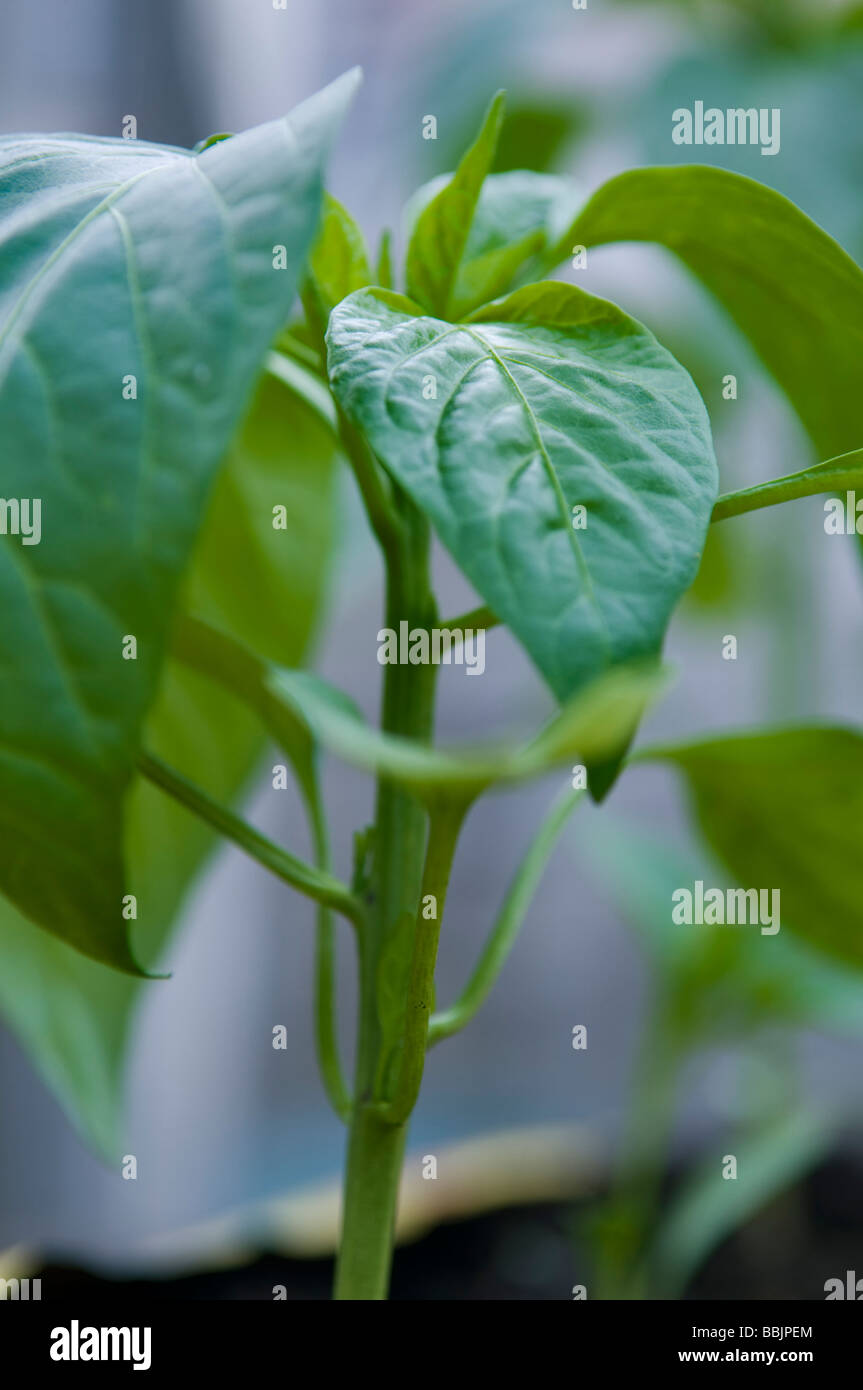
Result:
<instances>
[{"instance_id":1,"label":"small narrow upright young leaf at the plant's top","mask_svg":"<svg viewBox=\"0 0 863 1390\"><path fill-rule=\"evenodd\" d=\"M413 225L404 267L407 293L441 318L454 313L459 272L479 190L495 158L502 121L503 92L499 92L485 114L477 140L453 177L429 197Z\"/></svg>"}]
</instances>

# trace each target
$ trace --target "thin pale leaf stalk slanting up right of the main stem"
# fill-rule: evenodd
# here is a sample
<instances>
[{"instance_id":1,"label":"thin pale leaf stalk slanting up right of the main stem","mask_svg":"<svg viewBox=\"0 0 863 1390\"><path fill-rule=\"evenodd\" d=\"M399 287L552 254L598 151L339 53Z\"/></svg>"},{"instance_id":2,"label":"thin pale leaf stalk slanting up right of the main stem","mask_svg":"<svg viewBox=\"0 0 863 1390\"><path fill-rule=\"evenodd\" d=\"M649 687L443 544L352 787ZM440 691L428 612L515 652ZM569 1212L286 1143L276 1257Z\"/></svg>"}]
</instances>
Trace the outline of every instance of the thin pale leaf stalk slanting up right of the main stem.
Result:
<instances>
[{"instance_id":1,"label":"thin pale leaf stalk slanting up right of the main stem","mask_svg":"<svg viewBox=\"0 0 863 1390\"><path fill-rule=\"evenodd\" d=\"M542 821L507 890L503 906L482 948L474 973L456 1002L449 1009L432 1015L428 1026L428 1047L434 1047L443 1038L452 1037L453 1033L461 1031L485 1004L516 944L516 937L557 837L584 795L584 791L571 791L567 788Z\"/></svg>"}]
</instances>

